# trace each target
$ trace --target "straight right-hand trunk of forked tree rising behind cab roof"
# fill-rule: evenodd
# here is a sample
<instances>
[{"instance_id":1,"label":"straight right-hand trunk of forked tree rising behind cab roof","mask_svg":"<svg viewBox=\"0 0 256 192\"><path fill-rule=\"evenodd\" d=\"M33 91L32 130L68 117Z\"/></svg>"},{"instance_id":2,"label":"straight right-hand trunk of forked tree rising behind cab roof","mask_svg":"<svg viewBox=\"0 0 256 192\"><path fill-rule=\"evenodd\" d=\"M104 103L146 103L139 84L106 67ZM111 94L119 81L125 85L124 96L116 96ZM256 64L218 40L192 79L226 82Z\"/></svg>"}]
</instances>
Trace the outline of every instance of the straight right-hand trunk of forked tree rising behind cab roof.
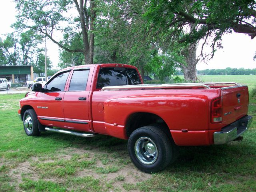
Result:
<instances>
[{"instance_id":1,"label":"straight right-hand trunk of forked tree rising behind cab roof","mask_svg":"<svg viewBox=\"0 0 256 192\"><path fill-rule=\"evenodd\" d=\"M96 17L96 12L94 10L95 3L94 0L90 0L90 12L91 12L91 20L90 20L90 64L93 64L93 54L94 54L94 20Z\"/></svg>"}]
</instances>

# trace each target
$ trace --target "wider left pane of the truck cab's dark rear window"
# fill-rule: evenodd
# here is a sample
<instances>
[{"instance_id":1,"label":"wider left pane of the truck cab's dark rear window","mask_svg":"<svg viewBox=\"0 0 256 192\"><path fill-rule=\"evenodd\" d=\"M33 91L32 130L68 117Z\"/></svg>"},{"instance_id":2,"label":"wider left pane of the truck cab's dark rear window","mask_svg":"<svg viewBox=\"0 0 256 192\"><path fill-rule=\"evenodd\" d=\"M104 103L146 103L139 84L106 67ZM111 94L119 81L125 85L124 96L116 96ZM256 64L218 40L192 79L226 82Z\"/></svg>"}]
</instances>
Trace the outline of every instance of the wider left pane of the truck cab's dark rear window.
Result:
<instances>
[{"instance_id":1,"label":"wider left pane of the truck cab's dark rear window","mask_svg":"<svg viewBox=\"0 0 256 192\"><path fill-rule=\"evenodd\" d=\"M127 85L125 68L101 68L97 87Z\"/></svg>"}]
</instances>

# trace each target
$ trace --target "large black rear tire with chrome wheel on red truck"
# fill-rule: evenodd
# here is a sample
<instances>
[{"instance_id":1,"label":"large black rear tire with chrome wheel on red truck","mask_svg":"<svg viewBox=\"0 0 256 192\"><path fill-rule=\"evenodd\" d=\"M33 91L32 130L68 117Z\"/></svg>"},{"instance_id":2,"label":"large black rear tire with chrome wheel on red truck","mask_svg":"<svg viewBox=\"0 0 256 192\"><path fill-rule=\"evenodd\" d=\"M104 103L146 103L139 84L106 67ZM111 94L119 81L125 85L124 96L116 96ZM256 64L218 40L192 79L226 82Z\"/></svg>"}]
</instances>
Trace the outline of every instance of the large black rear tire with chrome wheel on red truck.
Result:
<instances>
[{"instance_id":1,"label":"large black rear tire with chrome wheel on red truck","mask_svg":"<svg viewBox=\"0 0 256 192\"><path fill-rule=\"evenodd\" d=\"M136 129L128 140L128 153L134 165L146 173L159 172L174 158L174 142L156 126Z\"/></svg>"}]
</instances>

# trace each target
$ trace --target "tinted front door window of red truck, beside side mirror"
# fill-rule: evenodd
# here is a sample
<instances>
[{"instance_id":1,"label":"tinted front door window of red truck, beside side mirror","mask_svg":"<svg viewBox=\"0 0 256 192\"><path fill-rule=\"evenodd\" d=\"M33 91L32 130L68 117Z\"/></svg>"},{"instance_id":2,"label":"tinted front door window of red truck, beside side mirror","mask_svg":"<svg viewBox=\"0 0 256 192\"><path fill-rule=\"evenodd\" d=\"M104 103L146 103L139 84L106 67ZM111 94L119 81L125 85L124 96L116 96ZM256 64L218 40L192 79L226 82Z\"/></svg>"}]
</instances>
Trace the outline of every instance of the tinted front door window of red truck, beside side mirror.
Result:
<instances>
[{"instance_id":1,"label":"tinted front door window of red truck, beside side mirror","mask_svg":"<svg viewBox=\"0 0 256 192\"><path fill-rule=\"evenodd\" d=\"M48 84L46 84L46 92L64 91L65 84L68 78L68 72L62 72L55 76Z\"/></svg>"}]
</instances>

